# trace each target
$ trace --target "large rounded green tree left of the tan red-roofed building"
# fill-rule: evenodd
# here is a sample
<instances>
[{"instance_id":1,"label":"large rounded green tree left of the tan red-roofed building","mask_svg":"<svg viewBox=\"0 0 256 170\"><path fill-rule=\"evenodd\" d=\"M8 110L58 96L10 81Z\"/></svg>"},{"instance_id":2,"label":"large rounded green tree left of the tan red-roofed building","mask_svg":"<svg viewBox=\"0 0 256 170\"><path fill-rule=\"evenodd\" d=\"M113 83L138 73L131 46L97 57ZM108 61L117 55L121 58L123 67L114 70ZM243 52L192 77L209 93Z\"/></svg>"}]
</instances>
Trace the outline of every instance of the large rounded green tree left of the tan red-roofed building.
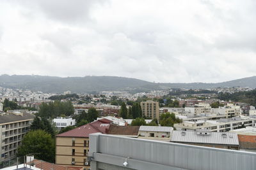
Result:
<instances>
[{"instance_id":1,"label":"large rounded green tree left of the tan red-roofed building","mask_svg":"<svg viewBox=\"0 0 256 170\"><path fill-rule=\"evenodd\" d=\"M30 131L22 139L22 145L18 148L18 157L35 153L36 159L47 162L55 162L55 144L51 134L42 130Z\"/></svg>"}]
</instances>

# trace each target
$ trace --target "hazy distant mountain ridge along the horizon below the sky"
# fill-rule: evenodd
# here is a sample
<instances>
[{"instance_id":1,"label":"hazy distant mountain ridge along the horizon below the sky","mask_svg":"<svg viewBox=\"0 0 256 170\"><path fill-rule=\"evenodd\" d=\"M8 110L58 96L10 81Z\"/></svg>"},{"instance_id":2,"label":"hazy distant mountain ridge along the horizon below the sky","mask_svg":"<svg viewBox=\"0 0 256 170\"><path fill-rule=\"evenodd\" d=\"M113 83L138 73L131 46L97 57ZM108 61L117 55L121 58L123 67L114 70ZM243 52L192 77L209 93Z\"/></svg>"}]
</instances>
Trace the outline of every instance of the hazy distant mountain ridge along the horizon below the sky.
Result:
<instances>
[{"instance_id":1,"label":"hazy distant mountain ridge along the horizon below the sky","mask_svg":"<svg viewBox=\"0 0 256 170\"><path fill-rule=\"evenodd\" d=\"M38 76L38 75L8 75L0 76L0 87L11 89L29 89L33 91L63 93L72 92L99 92L104 90L148 92L169 88L181 89L211 89L217 87L249 87L256 88L256 76L241 78L222 83L152 83L136 78L118 76L84 76L67 77Z\"/></svg>"}]
</instances>

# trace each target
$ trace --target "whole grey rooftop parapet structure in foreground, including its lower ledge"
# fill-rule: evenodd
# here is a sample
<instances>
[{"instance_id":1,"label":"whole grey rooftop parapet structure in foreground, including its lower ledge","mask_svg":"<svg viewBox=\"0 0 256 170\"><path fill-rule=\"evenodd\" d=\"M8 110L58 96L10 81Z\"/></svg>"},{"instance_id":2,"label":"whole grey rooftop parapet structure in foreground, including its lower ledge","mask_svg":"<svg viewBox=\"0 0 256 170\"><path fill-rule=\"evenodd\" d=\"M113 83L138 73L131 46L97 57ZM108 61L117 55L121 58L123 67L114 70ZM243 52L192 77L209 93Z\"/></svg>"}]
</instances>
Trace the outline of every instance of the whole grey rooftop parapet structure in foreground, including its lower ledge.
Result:
<instances>
[{"instance_id":1,"label":"whole grey rooftop parapet structure in foreground, including its lower ledge","mask_svg":"<svg viewBox=\"0 0 256 170\"><path fill-rule=\"evenodd\" d=\"M91 169L255 170L256 153L90 134Z\"/></svg>"}]
</instances>

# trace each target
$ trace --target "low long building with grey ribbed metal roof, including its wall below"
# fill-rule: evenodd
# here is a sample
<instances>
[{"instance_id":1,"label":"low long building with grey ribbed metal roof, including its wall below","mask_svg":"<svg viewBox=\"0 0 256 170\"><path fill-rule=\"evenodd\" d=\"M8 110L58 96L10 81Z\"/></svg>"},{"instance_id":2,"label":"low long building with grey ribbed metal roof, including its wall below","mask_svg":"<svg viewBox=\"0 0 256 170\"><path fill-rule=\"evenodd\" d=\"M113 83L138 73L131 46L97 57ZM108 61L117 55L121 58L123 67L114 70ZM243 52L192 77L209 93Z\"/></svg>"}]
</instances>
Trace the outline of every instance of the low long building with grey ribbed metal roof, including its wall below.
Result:
<instances>
[{"instance_id":1,"label":"low long building with grey ribbed metal roof, including its wall below","mask_svg":"<svg viewBox=\"0 0 256 170\"><path fill-rule=\"evenodd\" d=\"M171 142L239 150L236 133L208 131L173 131Z\"/></svg>"}]
</instances>

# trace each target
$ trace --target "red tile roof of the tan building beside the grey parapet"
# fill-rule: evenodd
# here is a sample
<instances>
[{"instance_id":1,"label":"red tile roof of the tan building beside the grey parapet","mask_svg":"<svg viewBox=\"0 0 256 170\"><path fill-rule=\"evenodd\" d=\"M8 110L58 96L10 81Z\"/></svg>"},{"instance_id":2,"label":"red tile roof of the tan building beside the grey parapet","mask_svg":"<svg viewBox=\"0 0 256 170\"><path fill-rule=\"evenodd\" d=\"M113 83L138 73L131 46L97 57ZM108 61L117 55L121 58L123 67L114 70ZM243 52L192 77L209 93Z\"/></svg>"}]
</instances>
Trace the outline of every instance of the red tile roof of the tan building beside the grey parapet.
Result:
<instances>
[{"instance_id":1,"label":"red tile roof of the tan building beside the grey parapet","mask_svg":"<svg viewBox=\"0 0 256 170\"><path fill-rule=\"evenodd\" d=\"M58 134L57 137L88 138L89 134L93 134L97 132L106 134L106 130L109 129L111 122L112 122L111 120L104 118L104 119L92 122L90 124L81 125L80 127L77 127L67 132L63 132L62 134Z\"/></svg>"}]
</instances>

